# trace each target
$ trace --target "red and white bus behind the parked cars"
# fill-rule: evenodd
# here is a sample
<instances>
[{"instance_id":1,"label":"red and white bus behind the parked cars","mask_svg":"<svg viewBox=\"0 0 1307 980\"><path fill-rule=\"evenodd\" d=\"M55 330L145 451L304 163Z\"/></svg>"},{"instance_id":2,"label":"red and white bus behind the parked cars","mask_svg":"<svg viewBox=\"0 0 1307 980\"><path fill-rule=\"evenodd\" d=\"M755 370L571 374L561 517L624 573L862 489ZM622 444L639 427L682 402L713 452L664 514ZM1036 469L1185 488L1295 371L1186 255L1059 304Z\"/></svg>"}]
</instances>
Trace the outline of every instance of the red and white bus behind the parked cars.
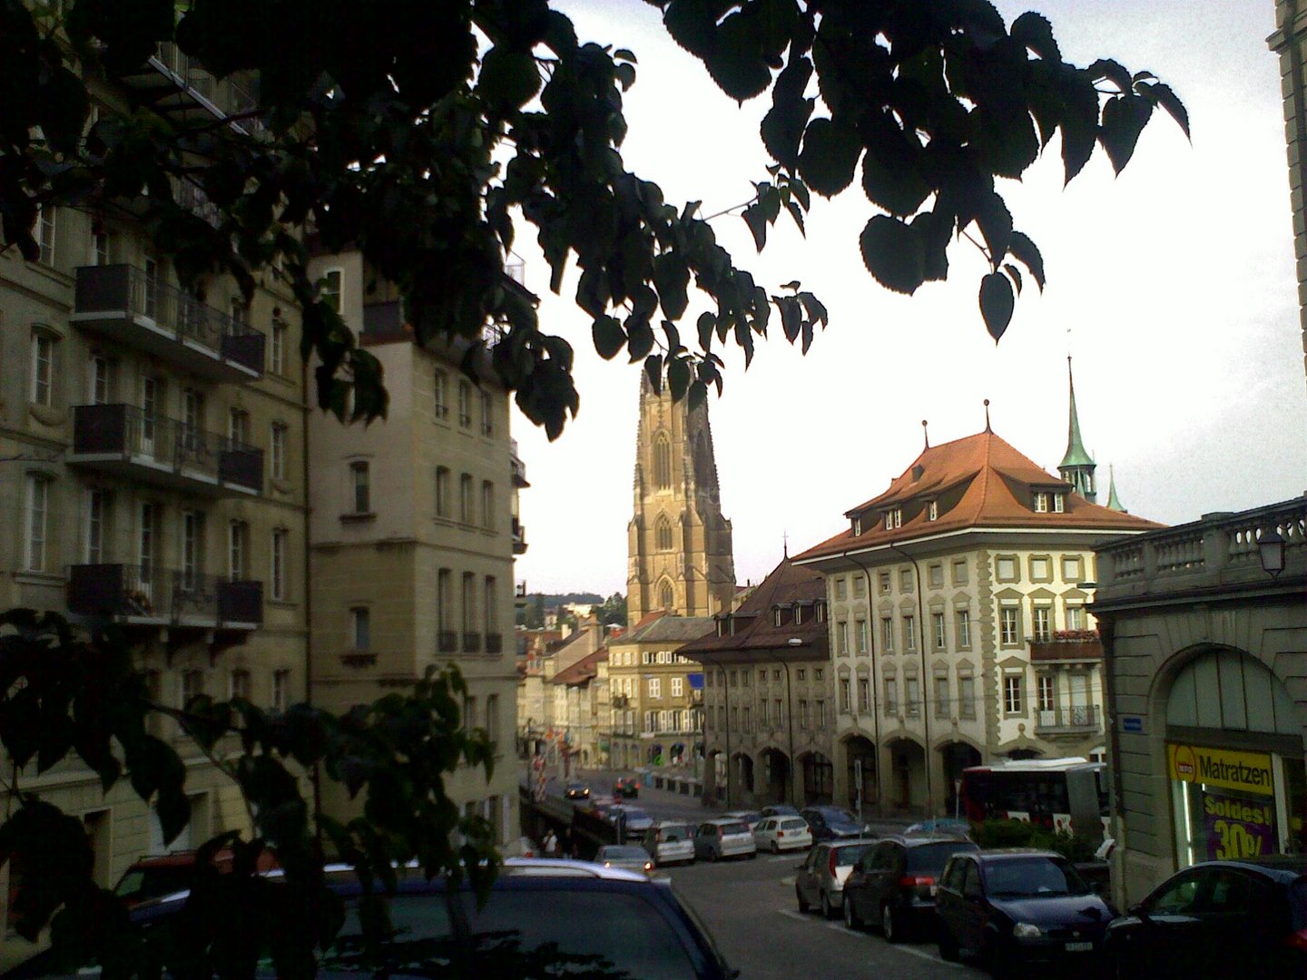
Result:
<instances>
[{"instance_id":1,"label":"red and white bus behind the parked cars","mask_svg":"<svg viewBox=\"0 0 1307 980\"><path fill-rule=\"evenodd\" d=\"M974 823L1029 821L1099 839L1110 828L1107 766L1078 755L971 766L962 770L961 808Z\"/></svg>"}]
</instances>

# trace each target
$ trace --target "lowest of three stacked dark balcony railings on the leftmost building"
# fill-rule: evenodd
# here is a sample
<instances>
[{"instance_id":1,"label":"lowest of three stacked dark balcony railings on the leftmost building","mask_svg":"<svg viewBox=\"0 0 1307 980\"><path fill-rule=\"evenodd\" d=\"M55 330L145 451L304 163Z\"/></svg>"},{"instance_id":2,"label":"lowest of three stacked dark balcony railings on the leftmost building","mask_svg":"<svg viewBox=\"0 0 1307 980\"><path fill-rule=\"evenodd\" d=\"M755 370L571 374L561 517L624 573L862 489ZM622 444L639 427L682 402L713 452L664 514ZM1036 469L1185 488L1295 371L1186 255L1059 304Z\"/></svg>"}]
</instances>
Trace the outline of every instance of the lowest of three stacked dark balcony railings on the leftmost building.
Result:
<instances>
[{"instance_id":1,"label":"lowest of three stacked dark balcony railings on the leftmost building","mask_svg":"<svg viewBox=\"0 0 1307 980\"><path fill-rule=\"evenodd\" d=\"M123 623L200 629L263 625L263 583L140 564L74 564L68 609Z\"/></svg>"}]
</instances>

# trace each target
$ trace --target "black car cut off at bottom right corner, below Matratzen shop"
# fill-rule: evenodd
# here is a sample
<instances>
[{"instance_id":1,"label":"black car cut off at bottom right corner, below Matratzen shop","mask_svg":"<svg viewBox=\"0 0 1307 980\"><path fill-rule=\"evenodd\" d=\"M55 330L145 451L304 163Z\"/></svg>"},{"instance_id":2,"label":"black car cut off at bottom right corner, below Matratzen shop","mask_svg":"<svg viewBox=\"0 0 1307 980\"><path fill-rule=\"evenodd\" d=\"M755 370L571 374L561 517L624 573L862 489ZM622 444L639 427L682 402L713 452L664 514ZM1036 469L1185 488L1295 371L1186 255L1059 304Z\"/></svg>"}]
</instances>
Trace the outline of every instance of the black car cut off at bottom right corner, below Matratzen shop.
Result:
<instances>
[{"instance_id":1,"label":"black car cut off at bottom right corner, below Matratzen shop","mask_svg":"<svg viewBox=\"0 0 1307 980\"><path fill-rule=\"evenodd\" d=\"M1117 977L1307 976L1307 857L1205 861L1107 926Z\"/></svg>"}]
</instances>

